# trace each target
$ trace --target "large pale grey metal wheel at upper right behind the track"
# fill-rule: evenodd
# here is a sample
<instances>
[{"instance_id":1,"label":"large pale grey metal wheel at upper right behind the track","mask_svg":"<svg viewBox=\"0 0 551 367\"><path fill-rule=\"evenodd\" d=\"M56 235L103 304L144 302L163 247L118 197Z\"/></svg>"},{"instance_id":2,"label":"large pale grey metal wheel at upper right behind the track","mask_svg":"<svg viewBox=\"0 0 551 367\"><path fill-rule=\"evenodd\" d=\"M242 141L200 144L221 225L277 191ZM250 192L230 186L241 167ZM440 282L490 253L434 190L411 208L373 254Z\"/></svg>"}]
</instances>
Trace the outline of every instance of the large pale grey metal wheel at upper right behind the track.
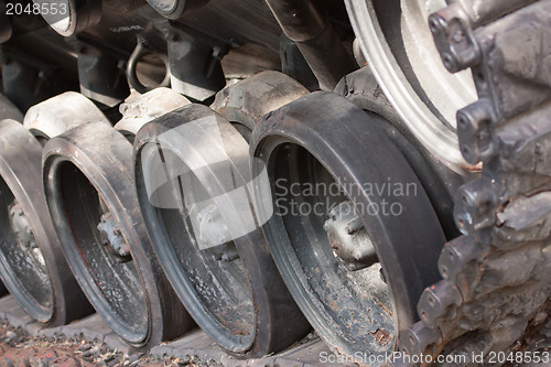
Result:
<instances>
[{"instance_id":1,"label":"large pale grey metal wheel at upper right behind the track","mask_svg":"<svg viewBox=\"0 0 551 367\"><path fill-rule=\"evenodd\" d=\"M444 0L346 0L361 51L408 128L434 156L461 172L455 112L476 100L468 73L442 65L428 24Z\"/></svg>"}]
</instances>

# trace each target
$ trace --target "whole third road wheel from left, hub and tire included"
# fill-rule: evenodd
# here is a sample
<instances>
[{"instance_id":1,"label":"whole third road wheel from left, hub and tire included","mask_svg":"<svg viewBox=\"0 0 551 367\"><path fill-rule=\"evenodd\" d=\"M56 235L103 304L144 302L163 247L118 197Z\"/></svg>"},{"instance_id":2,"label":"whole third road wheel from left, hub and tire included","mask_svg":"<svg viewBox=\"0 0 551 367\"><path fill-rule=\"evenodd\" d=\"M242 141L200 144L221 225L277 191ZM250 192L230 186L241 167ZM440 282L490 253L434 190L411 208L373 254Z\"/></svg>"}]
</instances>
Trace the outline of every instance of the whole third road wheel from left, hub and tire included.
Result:
<instances>
[{"instance_id":1,"label":"whole third road wheel from left, hub and tire included","mask_svg":"<svg viewBox=\"0 0 551 367\"><path fill-rule=\"evenodd\" d=\"M310 330L280 281L250 197L248 144L219 115L191 105L134 141L142 213L164 271L197 324L241 357Z\"/></svg>"}]
</instances>

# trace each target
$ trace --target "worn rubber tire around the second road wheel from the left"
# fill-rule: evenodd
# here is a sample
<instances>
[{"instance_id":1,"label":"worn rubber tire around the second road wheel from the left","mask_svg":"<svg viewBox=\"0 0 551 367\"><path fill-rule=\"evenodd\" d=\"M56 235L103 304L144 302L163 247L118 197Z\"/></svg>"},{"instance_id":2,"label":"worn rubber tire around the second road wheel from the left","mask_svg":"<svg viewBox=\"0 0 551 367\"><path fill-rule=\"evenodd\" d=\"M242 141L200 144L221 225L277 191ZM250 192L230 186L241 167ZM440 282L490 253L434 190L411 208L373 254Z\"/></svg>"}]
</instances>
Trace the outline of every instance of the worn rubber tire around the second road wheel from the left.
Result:
<instances>
[{"instance_id":1,"label":"worn rubber tire around the second road wheel from the left","mask_svg":"<svg viewBox=\"0 0 551 367\"><path fill-rule=\"evenodd\" d=\"M100 289L85 269L78 252L79 245L73 237L63 211L58 177L62 162L74 164L95 186L130 246L144 292L148 325L143 339L126 342L137 349L145 350L190 331L194 323L162 272L140 213L132 180L130 142L112 127L104 122L90 122L51 139L43 154L46 198L65 256L90 303L107 324L118 332L116 323L120 323L120 320L116 319Z\"/></svg>"}]
</instances>

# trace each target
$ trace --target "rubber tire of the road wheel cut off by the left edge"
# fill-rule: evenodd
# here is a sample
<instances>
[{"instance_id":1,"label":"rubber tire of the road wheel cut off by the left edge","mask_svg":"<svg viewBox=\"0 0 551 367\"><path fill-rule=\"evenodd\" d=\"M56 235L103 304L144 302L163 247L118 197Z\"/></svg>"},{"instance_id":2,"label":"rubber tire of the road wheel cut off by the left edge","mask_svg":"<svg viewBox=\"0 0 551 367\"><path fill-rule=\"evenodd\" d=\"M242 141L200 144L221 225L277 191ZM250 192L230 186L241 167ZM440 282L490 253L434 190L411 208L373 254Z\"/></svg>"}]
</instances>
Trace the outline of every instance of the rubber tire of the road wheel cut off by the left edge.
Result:
<instances>
[{"instance_id":1,"label":"rubber tire of the road wheel cut off by the left edge","mask_svg":"<svg viewBox=\"0 0 551 367\"><path fill-rule=\"evenodd\" d=\"M44 312L40 311L36 301L30 299L32 294L25 293L25 285L9 276L12 272L1 253L0 273L6 288L31 317L50 326L60 326L82 319L93 310L60 247L42 187L41 159L41 144L20 122L0 122L0 176L21 204L34 230L52 284L52 305Z\"/></svg>"}]
</instances>

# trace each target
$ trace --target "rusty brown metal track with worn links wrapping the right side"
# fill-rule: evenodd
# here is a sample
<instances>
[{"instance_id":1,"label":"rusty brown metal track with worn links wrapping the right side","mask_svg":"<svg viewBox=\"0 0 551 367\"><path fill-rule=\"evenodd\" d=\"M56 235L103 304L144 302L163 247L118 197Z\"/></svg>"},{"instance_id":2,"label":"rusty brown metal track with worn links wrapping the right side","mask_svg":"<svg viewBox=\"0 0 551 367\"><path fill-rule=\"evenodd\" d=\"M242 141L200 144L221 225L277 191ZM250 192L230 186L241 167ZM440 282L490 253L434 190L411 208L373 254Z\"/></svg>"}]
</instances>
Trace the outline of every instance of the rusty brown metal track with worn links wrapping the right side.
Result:
<instances>
[{"instance_id":1,"label":"rusty brown metal track with worn links wrapping the right side","mask_svg":"<svg viewBox=\"0 0 551 367\"><path fill-rule=\"evenodd\" d=\"M520 350L550 312L551 1L457 1L429 21L446 68L473 72L479 99L457 132L482 174L460 190L463 236L442 250L443 280L400 348L471 365L473 353Z\"/></svg>"}]
</instances>

